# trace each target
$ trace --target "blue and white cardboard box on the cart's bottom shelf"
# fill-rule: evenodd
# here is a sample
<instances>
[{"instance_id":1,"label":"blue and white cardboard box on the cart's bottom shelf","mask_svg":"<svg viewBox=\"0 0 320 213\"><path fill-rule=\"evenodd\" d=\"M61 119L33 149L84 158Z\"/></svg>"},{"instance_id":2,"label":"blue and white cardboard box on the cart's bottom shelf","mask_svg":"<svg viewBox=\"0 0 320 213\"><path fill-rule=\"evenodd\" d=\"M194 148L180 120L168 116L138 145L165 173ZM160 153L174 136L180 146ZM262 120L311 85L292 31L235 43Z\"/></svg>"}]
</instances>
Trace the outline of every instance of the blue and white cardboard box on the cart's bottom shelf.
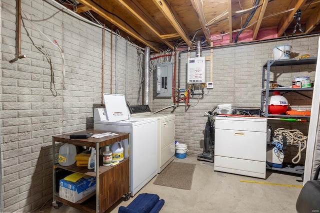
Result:
<instances>
[{"instance_id":1,"label":"blue and white cardboard box on the cart's bottom shelf","mask_svg":"<svg viewBox=\"0 0 320 213\"><path fill-rule=\"evenodd\" d=\"M76 203L95 191L95 177L84 176L76 182L61 179L59 185L59 197Z\"/></svg>"}]
</instances>

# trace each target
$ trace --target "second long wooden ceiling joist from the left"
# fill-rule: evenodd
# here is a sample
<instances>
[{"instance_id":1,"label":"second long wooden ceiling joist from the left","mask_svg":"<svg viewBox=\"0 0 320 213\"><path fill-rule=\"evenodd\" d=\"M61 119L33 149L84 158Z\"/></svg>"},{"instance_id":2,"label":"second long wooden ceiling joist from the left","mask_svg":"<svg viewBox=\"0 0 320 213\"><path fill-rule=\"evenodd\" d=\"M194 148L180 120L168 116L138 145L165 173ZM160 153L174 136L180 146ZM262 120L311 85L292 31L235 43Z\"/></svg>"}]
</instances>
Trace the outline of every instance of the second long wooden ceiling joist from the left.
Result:
<instances>
[{"instance_id":1,"label":"second long wooden ceiling joist from the left","mask_svg":"<svg viewBox=\"0 0 320 213\"><path fill-rule=\"evenodd\" d=\"M146 15L146 11L141 11L143 9L140 4L135 0L116 0L123 8L125 8L134 18L136 18L138 21L140 21L144 26L146 26L151 32L153 32L158 38L160 38L163 43L165 43L168 47L171 49L174 49L174 45L172 42L168 42L164 40L159 31L164 34L159 27L154 26L154 24L149 21L149 17Z\"/></svg>"}]
</instances>

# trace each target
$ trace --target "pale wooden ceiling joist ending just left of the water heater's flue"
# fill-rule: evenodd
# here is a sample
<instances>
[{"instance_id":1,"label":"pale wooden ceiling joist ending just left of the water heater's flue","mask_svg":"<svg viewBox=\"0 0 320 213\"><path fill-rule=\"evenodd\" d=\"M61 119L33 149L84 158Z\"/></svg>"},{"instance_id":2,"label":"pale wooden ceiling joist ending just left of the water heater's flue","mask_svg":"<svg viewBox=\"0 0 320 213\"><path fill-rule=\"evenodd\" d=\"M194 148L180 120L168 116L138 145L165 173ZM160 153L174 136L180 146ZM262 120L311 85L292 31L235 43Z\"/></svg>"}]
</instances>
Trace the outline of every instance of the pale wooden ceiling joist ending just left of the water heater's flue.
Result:
<instances>
[{"instance_id":1,"label":"pale wooden ceiling joist ending just left of the water heater's flue","mask_svg":"<svg viewBox=\"0 0 320 213\"><path fill-rule=\"evenodd\" d=\"M171 13L169 5L166 1L163 0L152 0L158 9L162 12L165 18L170 22L173 28L179 33L184 42L190 47L193 48L191 41L187 38L186 33L182 29L181 25L176 21L174 15Z\"/></svg>"}]
</instances>

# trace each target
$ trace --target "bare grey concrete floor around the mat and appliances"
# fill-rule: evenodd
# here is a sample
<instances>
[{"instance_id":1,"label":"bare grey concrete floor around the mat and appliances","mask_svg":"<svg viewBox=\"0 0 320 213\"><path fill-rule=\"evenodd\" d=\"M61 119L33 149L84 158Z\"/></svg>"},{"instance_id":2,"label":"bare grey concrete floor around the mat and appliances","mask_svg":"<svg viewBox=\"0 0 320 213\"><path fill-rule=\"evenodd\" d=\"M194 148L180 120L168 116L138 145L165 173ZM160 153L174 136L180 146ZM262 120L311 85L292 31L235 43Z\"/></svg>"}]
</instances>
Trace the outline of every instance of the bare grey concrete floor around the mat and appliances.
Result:
<instances>
[{"instance_id":1,"label":"bare grey concrete floor around the mat and appliances","mask_svg":"<svg viewBox=\"0 0 320 213\"><path fill-rule=\"evenodd\" d=\"M191 190L180 190L154 185L154 177L129 201L113 205L107 212L117 213L120 206L127 206L139 193L157 194L165 201L162 213L218 212L218 213L275 213L296 212L295 202L302 186L298 176L274 173L267 170L266 180L246 176L214 172L213 163L197 161L195 155L188 155L176 162L196 164ZM267 182L272 184L245 183L240 180ZM280 185L274 185L280 184ZM46 204L38 213L80 213L79 210L62 205L54 209Z\"/></svg>"}]
</instances>

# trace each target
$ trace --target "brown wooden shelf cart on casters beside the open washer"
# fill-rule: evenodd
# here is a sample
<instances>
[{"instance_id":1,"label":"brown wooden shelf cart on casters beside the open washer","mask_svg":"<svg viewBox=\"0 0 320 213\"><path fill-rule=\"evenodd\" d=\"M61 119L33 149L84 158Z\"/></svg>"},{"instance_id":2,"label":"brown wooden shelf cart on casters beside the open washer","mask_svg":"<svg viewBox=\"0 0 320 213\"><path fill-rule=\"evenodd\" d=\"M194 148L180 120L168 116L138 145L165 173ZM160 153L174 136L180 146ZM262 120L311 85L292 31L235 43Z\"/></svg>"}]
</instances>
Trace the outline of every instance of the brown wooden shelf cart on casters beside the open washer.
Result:
<instances>
[{"instance_id":1,"label":"brown wooden shelf cart on casters beside the open washer","mask_svg":"<svg viewBox=\"0 0 320 213\"><path fill-rule=\"evenodd\" d=\"M92 132L93 134L104 133L107 131L97 131L97 130L85 130L81 132ZM93 138L89 137L87 139L70 139L70 134L62 134L52 137L52 183L53 183L53 201L52 205L56 206L56 202L66 204L68 206L80 209L89 213L103 213L114 203L124 197L126 200L130 198L130 167L129 167L129 158L124 159L119 164L111 167L102 166L102 161L99 159L99 148L105 147L106 145L113 144L117 141L128 140L130 144L130 135L129 133L120 133L114 132L117 135L115 136L106 136L103 138ZM56 164L56 153L55 153L55 142L73 144L75 146L85 146L93 147L96 150L96 171L88 170L86 167L76 167L75 164L71 166L61 166ZM100 160L100 161L99 161ZM82 203L72 203L66 201L59 197L59 194L55 190L55 170L61 168L63 170L77 172L84 175L95 177L95 196L83 201Z\"/></svg>"}]
</instances>

